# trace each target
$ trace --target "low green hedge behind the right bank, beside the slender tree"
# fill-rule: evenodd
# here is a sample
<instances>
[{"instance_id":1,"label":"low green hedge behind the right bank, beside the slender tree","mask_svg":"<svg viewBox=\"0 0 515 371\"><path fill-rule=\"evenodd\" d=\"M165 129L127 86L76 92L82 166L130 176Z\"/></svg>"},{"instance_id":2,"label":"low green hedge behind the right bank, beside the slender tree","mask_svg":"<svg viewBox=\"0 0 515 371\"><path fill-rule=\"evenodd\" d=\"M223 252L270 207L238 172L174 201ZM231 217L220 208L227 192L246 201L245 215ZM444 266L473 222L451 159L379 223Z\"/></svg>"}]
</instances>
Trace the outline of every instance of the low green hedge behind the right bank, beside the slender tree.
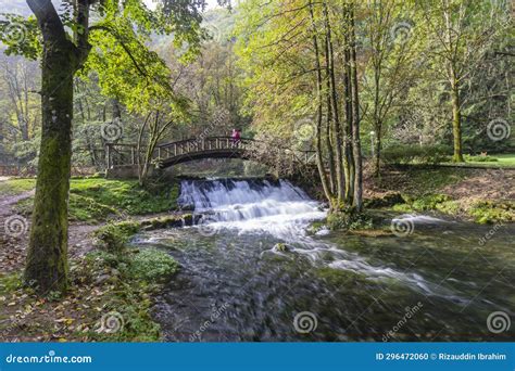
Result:
<instances>
[{"instance_id":1,"label":"low green hedge behind the right bank, beside the slender tree","mask_svg":"<svg viewBox=\"0 0 515 371\"><path fill-rule=\"evenodd\" d=\"M449 159L451 149L447 145L395 145L382 151L382 159L389 164L438 164Z\"/></svg>"}]
</instances>

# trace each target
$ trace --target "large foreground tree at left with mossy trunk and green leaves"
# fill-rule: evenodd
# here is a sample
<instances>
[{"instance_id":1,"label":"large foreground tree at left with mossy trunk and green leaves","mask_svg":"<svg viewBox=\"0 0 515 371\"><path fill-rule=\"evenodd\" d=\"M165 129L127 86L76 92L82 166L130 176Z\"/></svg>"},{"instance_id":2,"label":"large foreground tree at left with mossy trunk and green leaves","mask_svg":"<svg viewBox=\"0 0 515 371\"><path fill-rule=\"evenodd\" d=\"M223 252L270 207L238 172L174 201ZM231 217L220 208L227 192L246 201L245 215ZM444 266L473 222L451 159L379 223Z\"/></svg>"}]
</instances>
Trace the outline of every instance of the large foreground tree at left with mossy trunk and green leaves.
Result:
<instances>
[{"instance_id":1,"label":"large foreground tree at left with mossy trunk and green leaves","mask_svg":"<svg viewBox=\"0 0 515 371\"><path fill-rule=\"evenodd\" d=\"M39 292L64 291L74 76L88 63L91 51L96 54L100 49L101 53L102 41L111 37L115 57L109 66L120 62L116 57L122 57L117 52L122 48L141 75L166 87L161 74L153 75L159 61L149 61L152 71L142 69L145 61L138 57L153 54L140 37L151 31L174 33L176 44L188 42L189 50L196 52L202 39L198 7L203 3L164 0L150 11L138 0L77 0L63 2L60 13L50 0L27 0L27 4L35 17L12 16L0 29L8 53L41 57L42 132L25 280ZM10 42L13 23L22 24L27 37Z\"/></svg>"}]
</instances>

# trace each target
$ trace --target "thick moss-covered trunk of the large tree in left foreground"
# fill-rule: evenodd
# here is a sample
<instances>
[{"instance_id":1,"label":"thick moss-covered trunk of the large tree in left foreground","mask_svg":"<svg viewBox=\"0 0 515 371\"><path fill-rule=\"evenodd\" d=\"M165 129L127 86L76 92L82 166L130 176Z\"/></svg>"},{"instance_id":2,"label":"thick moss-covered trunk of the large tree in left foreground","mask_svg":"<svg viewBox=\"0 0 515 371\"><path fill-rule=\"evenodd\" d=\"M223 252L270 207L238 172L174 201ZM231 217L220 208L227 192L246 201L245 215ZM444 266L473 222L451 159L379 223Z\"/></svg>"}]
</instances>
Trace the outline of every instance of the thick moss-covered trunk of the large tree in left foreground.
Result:
<instances>
[{"instance_id":1,"label":"thick moss-covered trunk of the large tree in left foreground","mask_svg":"<svg viewBox=\"0 0 515 371\"><path fill-rule=\"evenodd\" d=\"M75 72L72 48L65 40L46 46L41 64L41 146L25 268L26 282L38 292L64 291L67 283L67 195Z\"/></svg>"}]
</instances>

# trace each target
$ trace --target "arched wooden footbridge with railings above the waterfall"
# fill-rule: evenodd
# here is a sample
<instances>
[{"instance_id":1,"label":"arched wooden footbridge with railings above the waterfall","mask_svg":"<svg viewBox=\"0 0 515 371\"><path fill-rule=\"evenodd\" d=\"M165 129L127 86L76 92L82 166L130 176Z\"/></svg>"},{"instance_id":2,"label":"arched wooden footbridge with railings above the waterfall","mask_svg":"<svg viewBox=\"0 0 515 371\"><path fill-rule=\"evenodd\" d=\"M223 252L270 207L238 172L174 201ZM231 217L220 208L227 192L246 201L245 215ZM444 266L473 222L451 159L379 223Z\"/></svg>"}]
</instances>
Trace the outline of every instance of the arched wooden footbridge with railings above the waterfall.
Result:
<instances>
[{"instance_id":1,"label":"arched wooden footbridge with railings above the waterfall","mask_svg":"<svg viewBox=\"0 0 515 371\"><path fill-rule=\"evenodd\" d=\"M108 168L137 164L137 144L108 143L105 161ZM203 158L242 158L259 159L256 154L263 151L280 152L281 156L297 163L307 164L314 161L314 151L289 149L267 149L267 143L249 138L237 142L230 137L191 138L156 145L152 162L160 168Z\"/></svg>"}]
</instances>

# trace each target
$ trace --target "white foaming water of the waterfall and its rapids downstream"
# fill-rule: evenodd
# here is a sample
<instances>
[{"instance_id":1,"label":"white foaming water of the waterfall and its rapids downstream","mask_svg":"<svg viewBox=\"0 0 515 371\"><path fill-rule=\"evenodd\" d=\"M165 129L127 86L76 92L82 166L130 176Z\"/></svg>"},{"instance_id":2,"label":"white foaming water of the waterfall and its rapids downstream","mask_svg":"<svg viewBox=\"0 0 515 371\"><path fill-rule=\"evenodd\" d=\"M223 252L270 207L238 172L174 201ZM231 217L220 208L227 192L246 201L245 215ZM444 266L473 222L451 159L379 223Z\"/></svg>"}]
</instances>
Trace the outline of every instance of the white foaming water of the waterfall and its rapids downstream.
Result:
<instances>
[{"instance_id":1,"label":"white foaming water of the waterfall and its rapids downstream","mask_svg":"<svg viewBox=\"0 0 515 371\"><path fill-rule=\"evenodd\" d=\"M427 282L419 274L372 266L356 253L342 251L330 243L306 235L305 230L310 222L325 218L327 213L321 208L319 203L288 181L183 181L179 204L193 206L196 213L209 214L209 219L213 220L210 228L237 230L238 233L267 232L291 244L287 253L273 247L262 255L297 254L306 257L314 265L354 271L372 280L397 279L427 295L466 302L448 290ZM419 223L444 222L420 215L404 215L402 218ZM326 259L328 255L331 256L330 263Z\"/></svg>"}]
</instances>

